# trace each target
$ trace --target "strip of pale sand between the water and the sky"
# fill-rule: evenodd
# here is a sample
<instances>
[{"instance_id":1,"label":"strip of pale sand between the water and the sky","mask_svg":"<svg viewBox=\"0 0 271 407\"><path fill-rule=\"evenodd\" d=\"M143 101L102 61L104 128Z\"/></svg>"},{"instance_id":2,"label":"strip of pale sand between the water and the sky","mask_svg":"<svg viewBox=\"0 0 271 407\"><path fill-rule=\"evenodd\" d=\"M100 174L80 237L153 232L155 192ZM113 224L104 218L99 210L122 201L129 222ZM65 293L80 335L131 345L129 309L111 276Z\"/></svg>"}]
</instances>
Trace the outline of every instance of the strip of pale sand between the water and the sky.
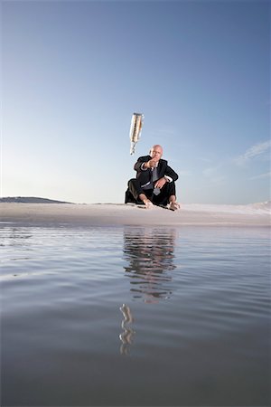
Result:
<instances>
[{"instance_id":1,"label":"strip of pale sand between the water and the sky","mask_svg":"<svg viewBox=\"0 0 271 407\"><path fill-rule=\"evenodd\" d=\"M270 203L182 204L179 211L134 204L0 204L0 224L17 226L270 226Z\"/></svg>"}]
</instances>

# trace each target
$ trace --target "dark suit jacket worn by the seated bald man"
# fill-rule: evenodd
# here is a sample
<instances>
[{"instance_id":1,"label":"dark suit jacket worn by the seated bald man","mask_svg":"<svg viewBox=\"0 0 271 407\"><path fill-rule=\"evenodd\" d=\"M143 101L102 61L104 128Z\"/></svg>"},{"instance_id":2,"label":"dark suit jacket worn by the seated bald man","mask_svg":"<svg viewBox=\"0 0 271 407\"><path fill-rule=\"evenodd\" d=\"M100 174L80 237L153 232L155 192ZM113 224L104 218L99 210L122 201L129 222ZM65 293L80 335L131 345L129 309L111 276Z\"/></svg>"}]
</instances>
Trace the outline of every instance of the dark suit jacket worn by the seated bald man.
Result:
<instances>
[{"instance_id":1,"label":"dark suit jacket worn by the seated bald man","mask_svg":"<svg viewBox=\"0 0 271 407\"><path fill-rule=\"evenodd\" d=\"M138 178L140 185L145 185L152 179L152 169L147 168L146 170L142 170L141 166L143 163L152 159L151 156L140 156L135 163L134 169L136 171L136 178ZM157 175L158 178L162 178L164 175L171 176L173 181L178 179L178 175L173 171L173 168L167 165L167 161L164 159L159 160L159 164L157 167Z\"/></svg>"}]
</instances>

